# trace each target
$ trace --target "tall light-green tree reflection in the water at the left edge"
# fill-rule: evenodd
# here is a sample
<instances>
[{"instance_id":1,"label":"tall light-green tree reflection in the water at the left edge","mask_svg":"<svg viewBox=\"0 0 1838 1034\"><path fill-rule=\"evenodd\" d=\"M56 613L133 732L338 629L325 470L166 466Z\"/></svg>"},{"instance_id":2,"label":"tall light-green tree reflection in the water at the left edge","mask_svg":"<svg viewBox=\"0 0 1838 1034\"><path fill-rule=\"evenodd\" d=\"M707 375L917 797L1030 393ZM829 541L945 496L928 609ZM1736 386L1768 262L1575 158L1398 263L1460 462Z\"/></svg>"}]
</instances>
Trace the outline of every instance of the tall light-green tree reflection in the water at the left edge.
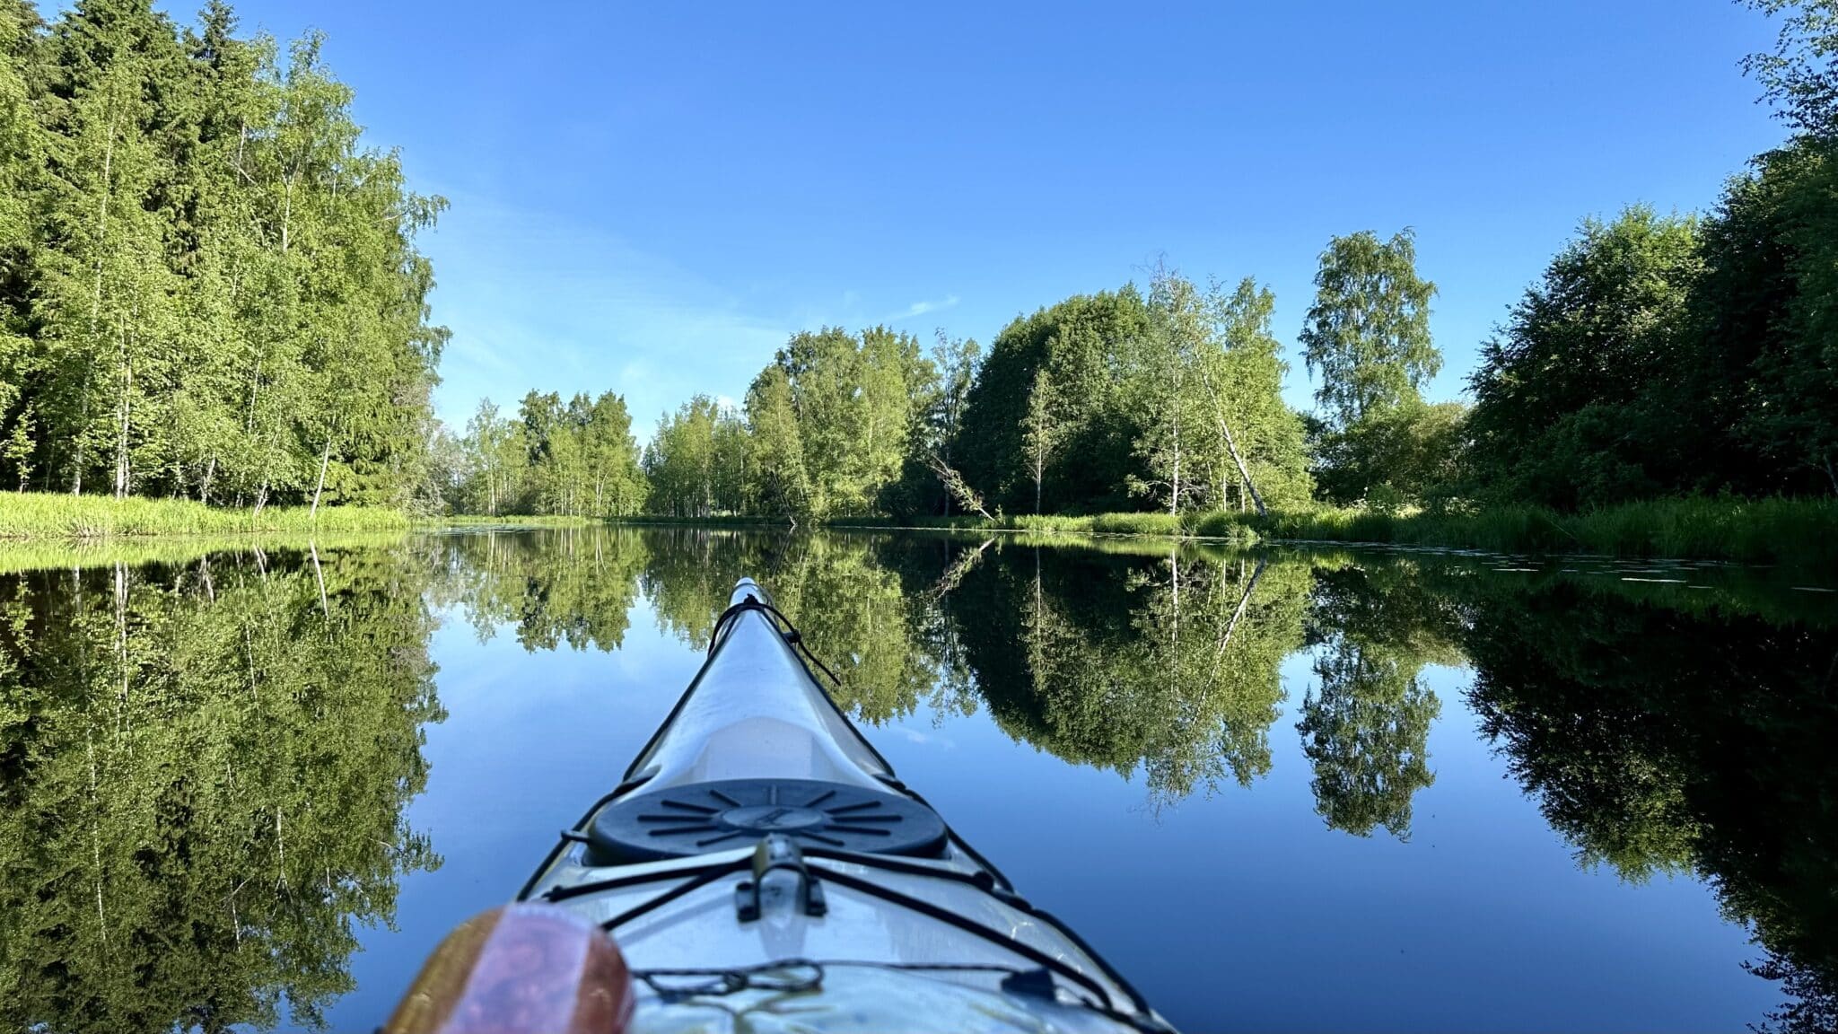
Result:
<instances>
[{"instance_id":1,"label":"tall light-green tree reflection in the water at the left edge","mask_svg":"<svg viewBox=\"0 0 1838 1034\"><path fill-rule=\"evenodd\" d=\"M312 1025L439 856L399 550L0 578L0 1025ZM29 629L28 629L29 622Z\"/></svg>"}]
</instances>

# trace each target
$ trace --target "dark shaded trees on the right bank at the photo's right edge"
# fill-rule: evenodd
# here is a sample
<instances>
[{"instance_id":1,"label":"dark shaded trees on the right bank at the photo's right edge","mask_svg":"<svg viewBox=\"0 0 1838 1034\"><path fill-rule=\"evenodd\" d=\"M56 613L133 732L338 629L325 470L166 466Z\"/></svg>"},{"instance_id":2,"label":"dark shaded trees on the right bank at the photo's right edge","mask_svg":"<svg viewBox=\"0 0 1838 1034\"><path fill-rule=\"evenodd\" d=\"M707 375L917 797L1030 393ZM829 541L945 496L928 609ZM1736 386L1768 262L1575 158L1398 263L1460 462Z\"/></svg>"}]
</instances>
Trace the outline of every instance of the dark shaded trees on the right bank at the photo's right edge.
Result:
<instances>
[{"instance_id":1,"label":"dark shaded trees on the right bank at the photo's right edge","mask_svg":"<svg viewBox=\"0 0 1838 1034\"><path fill-rule=\"evenodd\" d=\"M1470 377L1476 495L1838 493L1838 6L1752 57L1794 129L1706 217L1586 221Z\"/></svg>"}]
</instances>

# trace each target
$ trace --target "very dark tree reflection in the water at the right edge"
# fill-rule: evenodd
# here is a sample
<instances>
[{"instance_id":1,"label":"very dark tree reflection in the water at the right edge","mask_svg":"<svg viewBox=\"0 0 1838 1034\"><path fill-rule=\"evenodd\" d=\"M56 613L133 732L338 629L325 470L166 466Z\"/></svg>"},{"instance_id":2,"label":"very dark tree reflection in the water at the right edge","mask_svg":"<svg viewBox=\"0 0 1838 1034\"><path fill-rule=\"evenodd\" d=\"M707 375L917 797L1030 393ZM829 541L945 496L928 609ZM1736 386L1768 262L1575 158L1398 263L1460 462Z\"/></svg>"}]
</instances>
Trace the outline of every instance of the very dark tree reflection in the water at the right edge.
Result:
<instances>
[{"instance_id":1,"label":"very dark tree reflection in the water at the right edge","mask_svg":"<svg viewBox=\"0 0 1838 1034\"><path fill-rule=\"evenodd\" d=\"M1823 1028L1838 988L1838 732L1829 627L1630 605L1553 583L1452 591L1469 611L1469 703L1586 865L1691 872L1750 924Z\"/></svg>"}]
</instances>

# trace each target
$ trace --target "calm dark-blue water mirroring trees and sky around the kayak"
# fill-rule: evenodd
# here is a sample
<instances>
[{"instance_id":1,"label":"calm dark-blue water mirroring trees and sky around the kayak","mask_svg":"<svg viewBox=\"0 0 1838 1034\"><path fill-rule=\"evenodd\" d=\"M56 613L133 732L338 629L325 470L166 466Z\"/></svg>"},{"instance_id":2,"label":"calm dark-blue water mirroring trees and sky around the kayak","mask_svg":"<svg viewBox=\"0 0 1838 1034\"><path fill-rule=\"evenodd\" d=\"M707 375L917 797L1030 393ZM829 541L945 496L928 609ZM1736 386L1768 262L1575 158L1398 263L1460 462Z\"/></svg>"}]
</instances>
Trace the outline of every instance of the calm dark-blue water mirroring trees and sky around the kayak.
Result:
<instances>
[{"instance_id":1,"label":"calm dark-blue water mirroring trees and sky around the kayak","mask_svg":"<svg viewBox=\"0 0 1838 1034\"><path fill-rule=\"evenodd\" d=\"M1790 572L173 548L0 574L0 1028L373 1028L616 782L741 574L901 776L1189 1030L1741 1030L1838 973L1838 596Z\"/></svg>"}]
</instances>

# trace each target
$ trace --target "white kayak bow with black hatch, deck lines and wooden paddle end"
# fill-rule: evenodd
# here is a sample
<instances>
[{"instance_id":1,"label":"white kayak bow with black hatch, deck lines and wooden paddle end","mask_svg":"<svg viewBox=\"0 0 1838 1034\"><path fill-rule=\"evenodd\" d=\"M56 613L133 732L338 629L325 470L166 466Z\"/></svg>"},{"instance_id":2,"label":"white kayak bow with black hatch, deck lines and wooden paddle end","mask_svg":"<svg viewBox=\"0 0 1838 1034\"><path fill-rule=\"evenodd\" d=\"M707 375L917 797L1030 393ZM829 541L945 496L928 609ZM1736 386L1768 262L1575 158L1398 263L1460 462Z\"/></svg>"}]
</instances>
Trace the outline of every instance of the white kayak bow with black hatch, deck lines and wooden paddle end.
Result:
<instances>
[{"instance_id":1,"label":"white kayak bow with black hatch, deck lines and wooden paddle end","mask_svg":"<svg viewBox=\"0 0 1838 1034\"><path fill-rule=\"evenodd\" d=\"M818 684L752 580L619 786L384 1030L1173 1028L1016 894Z\"/></svg>"}]
</instances>

